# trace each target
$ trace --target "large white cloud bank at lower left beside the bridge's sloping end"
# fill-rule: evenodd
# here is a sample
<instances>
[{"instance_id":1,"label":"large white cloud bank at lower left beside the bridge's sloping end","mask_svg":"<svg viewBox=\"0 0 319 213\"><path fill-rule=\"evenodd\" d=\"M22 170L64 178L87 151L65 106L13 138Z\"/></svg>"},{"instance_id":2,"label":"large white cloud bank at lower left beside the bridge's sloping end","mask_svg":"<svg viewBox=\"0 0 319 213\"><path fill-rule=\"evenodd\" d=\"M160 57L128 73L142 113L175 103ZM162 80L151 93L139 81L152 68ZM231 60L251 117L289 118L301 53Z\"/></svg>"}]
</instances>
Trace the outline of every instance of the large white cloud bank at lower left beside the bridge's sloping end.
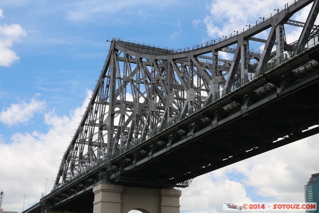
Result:
<instances>
[{"instance_id":1,"label":"large white cloud bank at lower left beside the bridge's sloping end","mask_svg":"<svg viewBox=\"0 0 319 213\"><path fill-rule=\"evenodd\" d=\"M49 126L46 133L17 132L12 134L9 143L0 137L1 154L7 162L0 164L1 184L5 206L10 207L10 211L22 211L24 194L24 209L27 209L39 202L41 193L46 191L48 194L51 191L60 159L65 147L69 146L91 95L91 91L88 91L85 103L71 111L70 115L58 116L54 111L45 114L45 123Z\"/></svg>"}]
</instances>

